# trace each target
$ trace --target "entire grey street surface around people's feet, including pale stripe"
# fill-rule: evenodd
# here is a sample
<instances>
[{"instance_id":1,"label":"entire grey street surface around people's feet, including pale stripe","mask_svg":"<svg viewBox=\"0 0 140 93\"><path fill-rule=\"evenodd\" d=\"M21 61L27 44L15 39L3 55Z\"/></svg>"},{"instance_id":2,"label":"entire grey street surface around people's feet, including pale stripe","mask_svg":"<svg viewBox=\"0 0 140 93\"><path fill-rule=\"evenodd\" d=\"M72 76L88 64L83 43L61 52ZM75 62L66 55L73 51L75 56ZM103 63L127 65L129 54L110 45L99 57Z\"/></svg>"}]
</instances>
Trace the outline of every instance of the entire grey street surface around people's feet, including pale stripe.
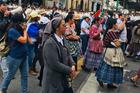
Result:
<instances>
[{"instance_id":1,"label":"entire grey street surface around people's feet, including pale stripe","mask_svg":"<svg viewBox=\"0 0 140 93\"><path fill-rule=\"evenodd\" d=\"M125 73L136 71L140 67L140 62L132 62L130 59L127 61L128 66L125 68ZM82 59L80 64L82 64ZM38 67L39 69L39 67ZM80 70L80 65L79 65ZM140 87L135 88L129 81L130 76L126 77L124 83L115 90L109 90L106 87L101 88L94 76L95 73L86 73L84 71L79 71L77 78L73 81L74 93L139 93ZM37 77L29 76L29 92L30 93L40 93L41 88L38 86L39 81ZM0 70L0 83L2 80L2 73ZM7 93L20 93L20 74L17 72L15 79L12 80L8 88Z\"/></svg>"}]
</instances>

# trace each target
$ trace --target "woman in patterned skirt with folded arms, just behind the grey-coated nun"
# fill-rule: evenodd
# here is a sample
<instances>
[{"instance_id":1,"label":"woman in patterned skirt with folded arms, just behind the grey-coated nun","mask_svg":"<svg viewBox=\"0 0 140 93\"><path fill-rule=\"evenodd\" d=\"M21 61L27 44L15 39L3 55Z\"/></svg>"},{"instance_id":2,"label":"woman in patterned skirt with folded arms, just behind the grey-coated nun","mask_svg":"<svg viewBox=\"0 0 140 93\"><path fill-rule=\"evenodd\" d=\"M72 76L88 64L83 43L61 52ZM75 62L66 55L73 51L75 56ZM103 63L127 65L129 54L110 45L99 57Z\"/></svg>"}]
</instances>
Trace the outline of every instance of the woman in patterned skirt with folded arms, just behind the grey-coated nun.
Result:
<instances>
[{"instance_id":1,"label":"woman in patterned skirt with folded arms, just behind the grey-coated nun","mask_svg":"<svg viewBox=\"0 0 140 93\"><path fill-rule=\"evenodd\" d=\"M65 31L65 37L66 37L66 46L68 47L68 50L70 51L70 54L76 63L76 70L77 70L77 60L78 57L81 54L81 49L79 45L80 37L75 32L74 27L72 25L74 24L74 15L69 14L67 15L65 22L66 22L66 31Z\"/></svg>"}]
</instances>

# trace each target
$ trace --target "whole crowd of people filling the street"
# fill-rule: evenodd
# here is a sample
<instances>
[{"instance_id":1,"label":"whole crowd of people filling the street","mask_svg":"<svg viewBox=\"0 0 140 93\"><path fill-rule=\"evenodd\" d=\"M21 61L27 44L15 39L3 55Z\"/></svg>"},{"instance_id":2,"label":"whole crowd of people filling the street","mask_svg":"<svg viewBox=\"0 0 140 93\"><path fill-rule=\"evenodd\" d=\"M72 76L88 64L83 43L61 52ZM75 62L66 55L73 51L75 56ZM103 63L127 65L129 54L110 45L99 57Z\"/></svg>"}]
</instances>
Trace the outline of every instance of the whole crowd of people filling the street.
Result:
<instances>
[{"instance_id":1,"label":"whole crowd of people filling the street","mask_svg":"<svg viewBox=\"0 0 140 93\"><path fill-rule=\"evenodd\" d=\"M133 22L129 15L13 8L0 2L0 93L6 93L18 69L21 93L28 93L28 75L38 73L41 93L73 93L70 83L80 56L82 69L96 71L101 87L117 88L127 65L124 56L140 59L140 20ZM140 71L131 78L135 86L139 78Z\"/></svg>"}]
</instances>

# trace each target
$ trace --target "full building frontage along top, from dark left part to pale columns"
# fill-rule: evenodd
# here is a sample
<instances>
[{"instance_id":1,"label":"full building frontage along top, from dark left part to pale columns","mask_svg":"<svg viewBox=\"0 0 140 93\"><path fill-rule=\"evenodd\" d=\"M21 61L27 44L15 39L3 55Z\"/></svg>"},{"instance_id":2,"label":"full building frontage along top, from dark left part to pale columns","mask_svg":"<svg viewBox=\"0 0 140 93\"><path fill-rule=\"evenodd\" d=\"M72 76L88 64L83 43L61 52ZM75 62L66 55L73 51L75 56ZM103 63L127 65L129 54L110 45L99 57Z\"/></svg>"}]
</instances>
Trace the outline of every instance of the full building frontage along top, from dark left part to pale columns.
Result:
<instances>
[{"instance_id":1,"label":"full building frontage along top, from dark left part to pale columns","mask_svg":"<svg viewBox=\"0 0 140 93\"><path fill-rule=\"evenodd\" d=\"M103 0L4 0L17 2L20 5L22 3L30 3L33 2L39 3L39 5L43 4L46 7L58 7L58 8L67 8L67 9L77 9L83 11L97 11L101 8L101 4Z\"/></svg>"}]
</instances>

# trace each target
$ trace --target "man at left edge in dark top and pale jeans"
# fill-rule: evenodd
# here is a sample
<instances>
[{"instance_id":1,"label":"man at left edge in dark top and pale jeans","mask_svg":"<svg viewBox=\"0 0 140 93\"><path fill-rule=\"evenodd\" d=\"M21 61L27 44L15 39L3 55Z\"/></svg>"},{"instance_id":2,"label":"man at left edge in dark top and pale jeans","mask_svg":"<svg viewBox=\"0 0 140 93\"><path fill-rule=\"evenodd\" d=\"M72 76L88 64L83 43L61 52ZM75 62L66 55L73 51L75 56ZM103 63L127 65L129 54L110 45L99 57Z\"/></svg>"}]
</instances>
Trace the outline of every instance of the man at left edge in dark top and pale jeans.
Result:
<instances>
[{"instance_id":1,"label":"man at left edge in dark top and pale jeans","mask_svg":"<svg viewBox=\"0 0 140 93\"><path fill-rule=\"evenodd\" d=\"M0 1L0 66L3 71L3 77L8 72L6 57L3 56L2 53L2 43L4 42L4 38L6 38L7 26L9 24L9 16L10 12L7 9L7 5L5 2Z\"/></svg>"}]
</instances>

